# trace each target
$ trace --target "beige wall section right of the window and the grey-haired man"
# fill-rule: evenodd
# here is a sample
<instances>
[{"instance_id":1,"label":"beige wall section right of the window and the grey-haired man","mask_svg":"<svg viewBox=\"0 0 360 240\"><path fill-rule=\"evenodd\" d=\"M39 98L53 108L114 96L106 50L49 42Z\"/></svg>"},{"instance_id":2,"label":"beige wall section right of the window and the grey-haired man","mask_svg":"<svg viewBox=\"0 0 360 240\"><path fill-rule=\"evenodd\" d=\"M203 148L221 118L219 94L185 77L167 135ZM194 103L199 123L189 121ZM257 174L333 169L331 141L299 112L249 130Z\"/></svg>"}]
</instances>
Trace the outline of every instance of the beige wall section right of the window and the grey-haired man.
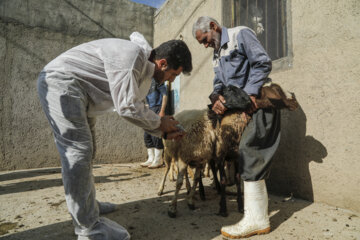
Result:
<instances>
[{"instance_id":1,"label":"beige wall section right of the window and the grey-haired man","mask_svg":"<svg viewBox=\"0 0 360 240\"><path fill-rule=\"evenodd\" d=\"M293 66L272 78L284 112L270 189L360 212L360 2L291 1Z\"/></svg>"}]
</instances>

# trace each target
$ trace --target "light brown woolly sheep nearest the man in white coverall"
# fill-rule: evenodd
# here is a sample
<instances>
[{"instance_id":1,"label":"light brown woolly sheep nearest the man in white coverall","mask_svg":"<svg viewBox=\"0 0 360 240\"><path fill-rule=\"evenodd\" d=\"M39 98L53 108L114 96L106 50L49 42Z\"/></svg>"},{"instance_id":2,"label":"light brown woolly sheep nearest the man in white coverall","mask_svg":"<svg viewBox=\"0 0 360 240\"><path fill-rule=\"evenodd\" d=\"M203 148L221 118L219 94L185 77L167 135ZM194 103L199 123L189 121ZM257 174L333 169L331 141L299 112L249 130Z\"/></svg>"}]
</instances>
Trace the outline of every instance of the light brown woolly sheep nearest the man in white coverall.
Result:
<instances>
[{"instance_id":1,"label":"light brown woolly sheep nearest the man in white coverall","mask_svg":"<svg viewBox=\"0 0 360 240\"><path fill-rule=\"evenodd\" d=\"M162 195L171 160L174 159L177 163L178 176L176 179L175 195L168 211L170 217L176 216L177 196L183 183L183 177L187 174L186 169L188 165L195 168L194 183L187 196L188 206L191 209L194 208L192 198L200 178L200 170L212 157L216 142L215 129L208 119L206 110L185 110L175 115L175 119L180 122L187 134L176 142L171 140L164 141L166 168L158 191L158 195Z\"/></svg>"}]
</instances>

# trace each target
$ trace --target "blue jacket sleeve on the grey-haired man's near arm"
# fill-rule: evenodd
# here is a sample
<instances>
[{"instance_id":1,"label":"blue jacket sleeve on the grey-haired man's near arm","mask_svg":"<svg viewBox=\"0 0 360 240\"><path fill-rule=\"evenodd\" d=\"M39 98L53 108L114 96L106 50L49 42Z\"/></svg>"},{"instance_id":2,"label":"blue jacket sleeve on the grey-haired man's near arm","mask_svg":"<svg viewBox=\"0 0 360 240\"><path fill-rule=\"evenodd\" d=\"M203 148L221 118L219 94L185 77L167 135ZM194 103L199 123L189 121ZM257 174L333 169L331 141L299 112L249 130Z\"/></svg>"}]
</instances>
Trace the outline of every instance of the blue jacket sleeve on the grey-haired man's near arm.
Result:
<instances>
[{"instance_id":1,"label":"blue jacket sleeve on the grey-haired man's near arm","mask_svg":"<svg viewBox=\"0 0 360 240\"><path fill-rule=\"evenodd\" d=\"M239 48L245 52L250 64L249 77L244 86L244 91L249 95L258 95L259 89L271 72L271 59L252 30L241 30L237 36L237 41Z\"/></svg>"}]
</instances>

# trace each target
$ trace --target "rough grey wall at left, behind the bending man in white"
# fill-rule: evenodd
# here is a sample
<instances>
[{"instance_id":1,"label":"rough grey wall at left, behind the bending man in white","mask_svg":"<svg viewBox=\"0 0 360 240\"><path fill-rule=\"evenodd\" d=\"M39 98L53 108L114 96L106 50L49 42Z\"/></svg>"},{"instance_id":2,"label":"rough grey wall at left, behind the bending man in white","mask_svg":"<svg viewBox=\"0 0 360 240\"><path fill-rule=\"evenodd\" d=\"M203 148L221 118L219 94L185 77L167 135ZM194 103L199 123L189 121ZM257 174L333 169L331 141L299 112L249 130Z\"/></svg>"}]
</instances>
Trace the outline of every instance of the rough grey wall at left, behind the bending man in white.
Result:
<instances>
[{"instance_id":1,"label":"rough grey wall at left, behind the bending man in white","mask_svg":"<svg viewBox=\"0 0 360 240\"><path fill-rule=\"evenodd\" d=\"M154 11L128 0L0 1L0 170L60 164L37 97L41 69L67 49L94 39L128 39L139 31L152 44ZM95 163L146 157L143 131L117 114L99 117L96 131Z\"/></svg>"}]
</instances>

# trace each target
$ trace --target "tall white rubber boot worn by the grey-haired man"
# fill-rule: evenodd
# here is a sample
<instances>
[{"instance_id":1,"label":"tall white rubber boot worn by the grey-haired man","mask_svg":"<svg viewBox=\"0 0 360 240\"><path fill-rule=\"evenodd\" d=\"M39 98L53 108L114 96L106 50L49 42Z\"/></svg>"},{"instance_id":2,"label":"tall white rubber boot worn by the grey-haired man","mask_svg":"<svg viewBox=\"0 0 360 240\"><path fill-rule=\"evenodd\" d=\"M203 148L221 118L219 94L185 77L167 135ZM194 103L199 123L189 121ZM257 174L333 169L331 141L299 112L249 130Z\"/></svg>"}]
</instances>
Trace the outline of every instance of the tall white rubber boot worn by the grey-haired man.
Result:
<instances>
[{"instance_id":1,"label":"tall white rubber boot worn by the grey-haired man","mask_svg":"<svg viewBox=\"0 0 360 240\"><path fill-rule=\"evenodd\" d=\"M230 239L246 238L270 232L268 195L265 180L244 182L244 217L231 226L221 228L221 234Z\"/></svg>"}]
</instances>

